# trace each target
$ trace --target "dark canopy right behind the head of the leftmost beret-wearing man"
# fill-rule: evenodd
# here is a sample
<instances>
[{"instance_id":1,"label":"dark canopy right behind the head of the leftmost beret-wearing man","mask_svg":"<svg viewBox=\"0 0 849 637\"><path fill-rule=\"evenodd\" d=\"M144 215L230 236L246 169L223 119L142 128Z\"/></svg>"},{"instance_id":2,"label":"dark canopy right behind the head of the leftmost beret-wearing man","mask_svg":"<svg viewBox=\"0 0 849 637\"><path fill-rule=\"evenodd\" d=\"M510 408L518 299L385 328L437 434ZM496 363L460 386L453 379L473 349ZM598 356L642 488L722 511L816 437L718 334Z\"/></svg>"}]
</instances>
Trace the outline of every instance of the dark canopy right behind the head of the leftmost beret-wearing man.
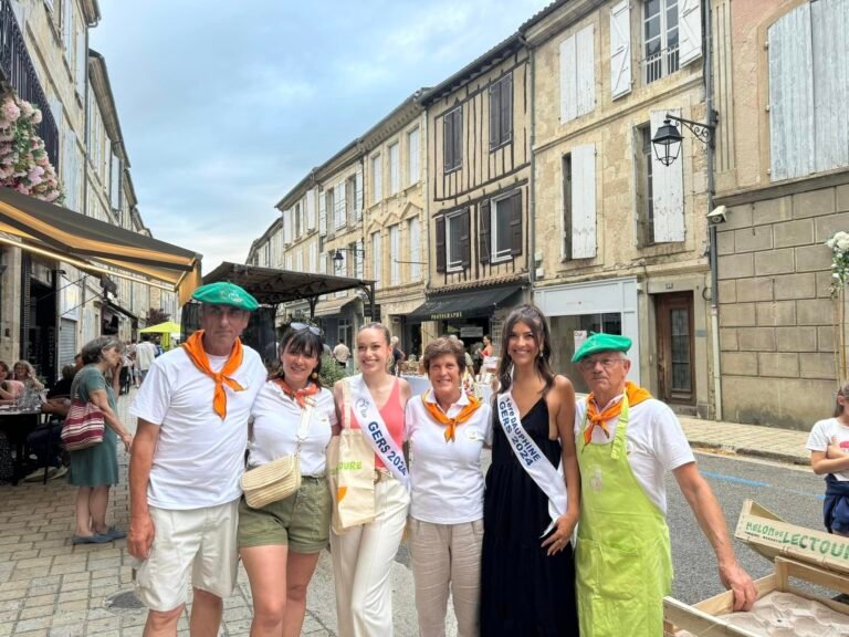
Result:
<instances>
[{"instance_id":1,"label":"dark canopy right behind the head of the leftmost beret-wearing man","mask_svg":"<svg viewBox=\"0 0 849 637\"><path fill-rule=\"evenodd\" d=\"M348 276L332 276L329 274L311 274L308 272L292 272L259 265L244 265L224 261L209 274L203 276L203 284L217 281L229 281L244 288L262 305L276 305L301 301L310 302L311 312L315 312L315 302L322 294L332 294L343 290L360 289L374 299L371 286L374 281L350 279Z\"/></svg>"}]
</instances>

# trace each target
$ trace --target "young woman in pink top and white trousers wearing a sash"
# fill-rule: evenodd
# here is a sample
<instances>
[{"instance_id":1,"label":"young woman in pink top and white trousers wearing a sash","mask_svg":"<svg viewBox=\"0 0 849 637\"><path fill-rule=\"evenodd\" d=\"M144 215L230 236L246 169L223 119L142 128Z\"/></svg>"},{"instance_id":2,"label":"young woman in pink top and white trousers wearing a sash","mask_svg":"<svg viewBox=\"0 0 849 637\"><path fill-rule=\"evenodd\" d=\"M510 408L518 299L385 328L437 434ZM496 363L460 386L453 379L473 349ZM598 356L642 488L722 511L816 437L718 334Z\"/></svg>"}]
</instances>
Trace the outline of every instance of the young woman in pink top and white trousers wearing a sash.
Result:
<instances>
[{"instance_id":1,"label":"young woman in pink top and white trousers wearing a sash","mask_svg":"<svg viewBox=\"0 0 849 637\"><path fill-rule=\"evenodd\" d=\"M331 531L339 637L391 637L391 567L407 522L409 472L401 450L403 410L410 398L406 380L390 376L389 331L369 323L357 333L360 374L339 380L334 398L339 421L346 411L375 450L375 518ZM347 387L344 387L347 385ZM334 434L339 427L334 428Z\"/></svg>"}]
</instances>

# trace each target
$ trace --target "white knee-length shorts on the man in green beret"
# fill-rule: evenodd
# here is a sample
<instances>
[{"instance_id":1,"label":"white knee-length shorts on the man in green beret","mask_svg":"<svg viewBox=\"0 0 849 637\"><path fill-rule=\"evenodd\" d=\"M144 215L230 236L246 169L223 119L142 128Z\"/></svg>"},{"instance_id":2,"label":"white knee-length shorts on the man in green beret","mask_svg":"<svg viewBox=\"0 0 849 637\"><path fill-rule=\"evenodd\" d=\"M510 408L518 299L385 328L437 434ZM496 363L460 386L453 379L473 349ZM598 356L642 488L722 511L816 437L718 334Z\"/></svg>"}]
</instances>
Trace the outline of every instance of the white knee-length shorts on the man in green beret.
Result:
<instances>
[{"instance_id":1,"label":"white knee-length shorts on the man in green beret","mask_svg":"<svg viewBox=\"0 0 849 637\"><path fill-rule=\"evenodd\" d=\"M151 610L184 605L191 585L228 597L235 588L239 500L188 511L150 507L156 529L147 560L134 560L137 597Z\"/></svg>"}]
</instances>

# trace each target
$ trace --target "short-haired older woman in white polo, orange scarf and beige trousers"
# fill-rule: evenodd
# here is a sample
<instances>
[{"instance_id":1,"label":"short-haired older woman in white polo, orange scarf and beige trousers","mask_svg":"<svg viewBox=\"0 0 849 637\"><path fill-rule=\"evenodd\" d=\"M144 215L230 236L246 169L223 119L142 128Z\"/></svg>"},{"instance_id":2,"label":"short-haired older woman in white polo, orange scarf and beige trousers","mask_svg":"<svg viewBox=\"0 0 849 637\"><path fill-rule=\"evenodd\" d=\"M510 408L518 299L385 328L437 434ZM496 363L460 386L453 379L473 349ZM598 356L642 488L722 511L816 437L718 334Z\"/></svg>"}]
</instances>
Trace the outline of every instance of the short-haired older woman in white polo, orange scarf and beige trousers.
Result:
<instances>
[{"instance_id":1,"label":"short-haired older woman in white polo, orange scarf and beige trousers","mask_svg":"<svg viewBox=\"0 0 849 637\"><path fill-rule=\"evenodd\" d=\"M410 553L421 637L446 634L449 591L461 637L480 633L483 473L492 409L461 388L462 344L437 338L424 349L431 389L407 404L412 453Z\"/></svg>"}]
</instances>

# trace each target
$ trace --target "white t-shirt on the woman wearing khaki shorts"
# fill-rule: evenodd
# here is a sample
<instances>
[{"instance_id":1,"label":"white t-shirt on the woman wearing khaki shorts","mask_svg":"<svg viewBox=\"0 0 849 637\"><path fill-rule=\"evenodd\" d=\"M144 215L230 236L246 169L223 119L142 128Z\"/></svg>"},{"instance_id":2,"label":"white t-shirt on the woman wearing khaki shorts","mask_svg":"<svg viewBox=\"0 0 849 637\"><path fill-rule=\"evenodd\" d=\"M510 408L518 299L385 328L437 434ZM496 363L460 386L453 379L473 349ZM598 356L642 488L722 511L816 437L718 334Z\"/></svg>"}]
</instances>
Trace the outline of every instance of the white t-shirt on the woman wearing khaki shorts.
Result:
<instances>
[{"instance_id":1,"label":"white t-shirt on the woman wearing khaki shorts","mask_svg":"<svg viewBox=\"0 0 849 637\"><path fill-rule=\"evenodd\" d=\"M322 389L313 396L315 405L310 417L310 429L301 443L301 473L322 476L325 472L325 451L336 425L333 394ZM260 467L297 448L297 428L301 426L301 406L286 396L280 385L269 380L253 401L253 438L248 457L250 467Z\"/></svg>"}]
</instances>

